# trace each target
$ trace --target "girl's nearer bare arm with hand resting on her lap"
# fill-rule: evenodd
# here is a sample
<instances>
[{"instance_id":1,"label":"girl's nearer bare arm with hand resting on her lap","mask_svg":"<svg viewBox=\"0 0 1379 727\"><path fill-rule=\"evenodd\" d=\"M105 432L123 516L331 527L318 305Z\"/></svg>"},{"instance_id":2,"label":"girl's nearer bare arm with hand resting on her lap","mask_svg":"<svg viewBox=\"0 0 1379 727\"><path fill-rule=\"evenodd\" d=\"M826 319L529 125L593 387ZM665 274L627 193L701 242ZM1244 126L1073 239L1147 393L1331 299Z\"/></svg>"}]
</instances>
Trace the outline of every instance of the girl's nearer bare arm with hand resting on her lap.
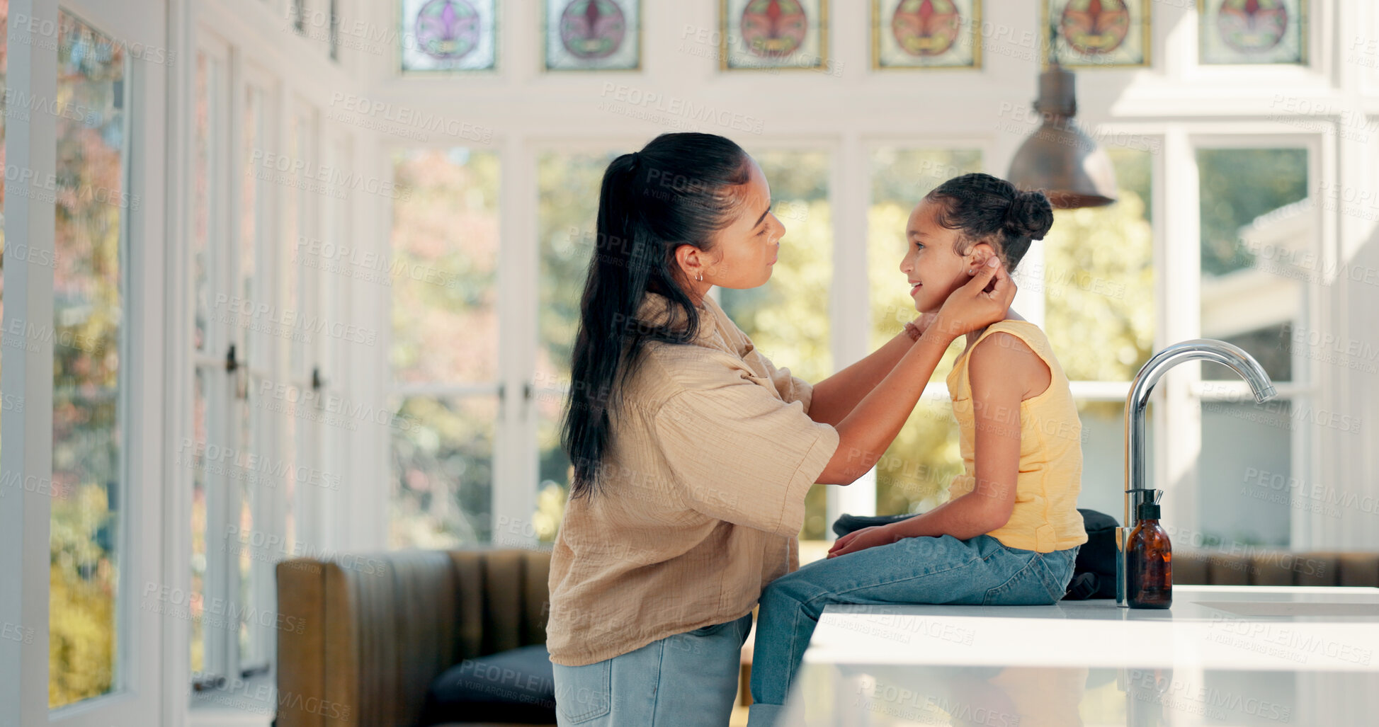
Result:
<instances>
[{"instance_id":1,"label":"girl's nearer bare arm with hand resting on her lap","mask_svg":"<svg viewBox=\"0 0 1379 727\"><path fill-rule=\"evenodd\" d=\"M1005 332L989 335L969 356L976 486L923 515L849 532L833 544L829 557L918 535L965 541L1009 521L1020 466L1020 401L1048 388L1048 370L1038 361L1045 371L1040 385L1038 371L1030 366L1030 359L1037 357L1023 341Z\"/></svg>"}]
</instances>

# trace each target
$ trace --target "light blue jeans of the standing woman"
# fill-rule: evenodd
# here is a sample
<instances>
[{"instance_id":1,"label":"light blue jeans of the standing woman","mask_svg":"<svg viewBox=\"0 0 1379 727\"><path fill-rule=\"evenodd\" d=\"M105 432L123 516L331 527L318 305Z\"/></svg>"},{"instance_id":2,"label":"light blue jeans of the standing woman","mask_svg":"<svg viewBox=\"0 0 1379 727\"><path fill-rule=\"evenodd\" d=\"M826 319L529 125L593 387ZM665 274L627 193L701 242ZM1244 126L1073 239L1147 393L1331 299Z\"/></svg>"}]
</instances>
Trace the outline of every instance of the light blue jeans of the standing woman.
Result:
<instances>
[{"instance_id":1,"label":"light blue jeans of the standing woman","mask_svg":"<svg viewBox=\"0 0 1379 727\"><path fill-rule=\"evenodd\" d=\"M666 636L636 650L556 670L556 723L598 727L724 727L738 695L752 614Z\"/></svg>"}]
</instances>

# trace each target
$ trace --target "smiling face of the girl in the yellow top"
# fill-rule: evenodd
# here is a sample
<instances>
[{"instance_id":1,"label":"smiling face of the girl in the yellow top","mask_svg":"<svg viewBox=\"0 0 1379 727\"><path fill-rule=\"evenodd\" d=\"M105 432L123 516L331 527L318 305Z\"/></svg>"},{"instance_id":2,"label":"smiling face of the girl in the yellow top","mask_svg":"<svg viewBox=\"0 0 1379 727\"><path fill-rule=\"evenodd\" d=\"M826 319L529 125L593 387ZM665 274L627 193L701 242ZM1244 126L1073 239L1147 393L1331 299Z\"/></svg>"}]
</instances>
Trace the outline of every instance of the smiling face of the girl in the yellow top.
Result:
<instances>
[{"instance_id":1,"label":"smiling face of the girl in the yellow top","mask_svg":"<svg viewBox=\"0 0 1379 727\"><path fill-rule=\"evenodd\" d=\"M900 259L900 272L910 281L910 298L920 313L942 308L949 294L972 279L968 269L985 265L993 252L986 243L971 246L965 255L954 252L961 233L939 225L939 211L938 203L923 200L905 226L909 250Z\"/></svg>"}]
</instances>

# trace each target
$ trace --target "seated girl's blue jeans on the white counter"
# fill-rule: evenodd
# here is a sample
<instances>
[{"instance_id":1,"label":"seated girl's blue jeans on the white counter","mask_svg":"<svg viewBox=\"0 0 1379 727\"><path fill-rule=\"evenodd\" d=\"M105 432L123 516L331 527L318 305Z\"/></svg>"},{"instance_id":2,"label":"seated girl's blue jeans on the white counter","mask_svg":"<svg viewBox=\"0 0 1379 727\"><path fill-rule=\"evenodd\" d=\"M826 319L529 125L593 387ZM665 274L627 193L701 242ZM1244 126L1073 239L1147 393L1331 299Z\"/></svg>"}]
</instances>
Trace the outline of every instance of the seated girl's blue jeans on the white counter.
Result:
<instances>
[{"instance_id":1,"label":"seated girl's blue jeans on the white counter","mask_svg":"<svg viewBox=\"0 0 1379 727\"><path fill-rule=\"evenodd\" d=\"M990 535L902 538L776 578L757 613L749 724L772 724L781 713L825 606L1047 606L1063 597L1076 557L1077 548L1036 553Z\"/></svg>"}]
</instances>

